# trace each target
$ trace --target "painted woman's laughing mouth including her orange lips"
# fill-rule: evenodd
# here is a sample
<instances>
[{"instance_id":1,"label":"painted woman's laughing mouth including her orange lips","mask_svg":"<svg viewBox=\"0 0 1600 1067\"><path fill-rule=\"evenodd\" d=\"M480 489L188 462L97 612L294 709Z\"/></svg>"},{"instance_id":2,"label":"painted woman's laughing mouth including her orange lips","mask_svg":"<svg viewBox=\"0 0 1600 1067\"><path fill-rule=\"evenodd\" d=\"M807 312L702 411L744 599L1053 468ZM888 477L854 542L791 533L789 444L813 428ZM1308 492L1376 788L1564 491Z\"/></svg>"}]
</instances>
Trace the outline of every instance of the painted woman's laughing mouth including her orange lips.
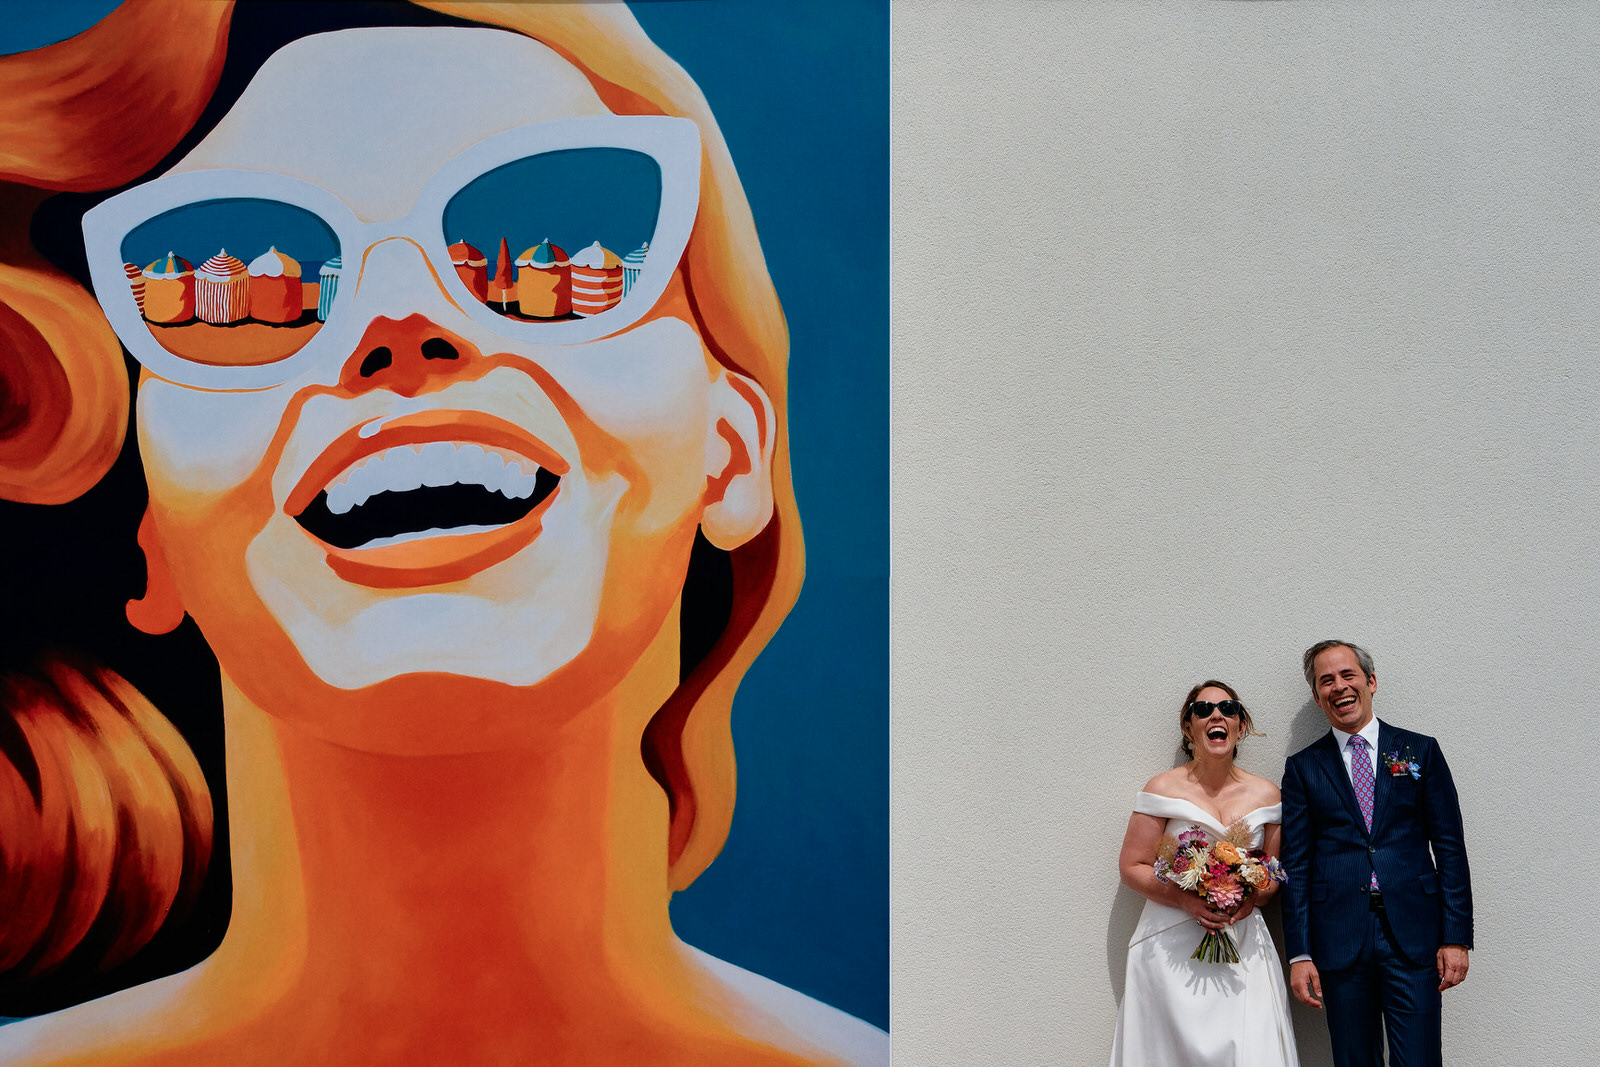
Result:
<instances>
[{"instance_id":1,"label":"painted woman's laughing mouth including her orange lips","mask_svg":"<svg viewBox=\"0 0 1600 1067\"><path fill-rule=\"evenodd\" d=\"M531 544L568 469L506 419L422 411L342 434L310 464L283 510L346 581L434 585Z\"/></svg>"}]
</instances>

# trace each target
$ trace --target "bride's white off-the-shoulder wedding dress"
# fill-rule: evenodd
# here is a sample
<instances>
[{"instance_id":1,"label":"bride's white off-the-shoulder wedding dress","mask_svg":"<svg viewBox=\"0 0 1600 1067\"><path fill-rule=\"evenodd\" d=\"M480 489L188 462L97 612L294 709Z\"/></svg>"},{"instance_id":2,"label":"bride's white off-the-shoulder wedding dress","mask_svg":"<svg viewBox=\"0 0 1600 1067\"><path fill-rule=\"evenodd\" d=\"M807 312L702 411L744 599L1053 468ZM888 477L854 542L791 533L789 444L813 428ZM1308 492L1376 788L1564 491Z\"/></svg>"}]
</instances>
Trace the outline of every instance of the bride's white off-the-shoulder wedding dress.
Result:
<instances>
[{"instance_id":1,"label":"bride's white off-the-shoulder wedding dress","mask_svg":"<svg viewBox=\"0 0 1600 1067\"><path fill-rule=\"evenodd\" d=\"M1203 808L1176 797L1141 792L1133 809L1166 819L1173 837L1198 829L1214 841L1226 833ZM1262 827L1282 819L1282 805L1246 814L1250 846L1259 848ZM1128 942L1110 1067L1299 1067L1283 965L1267 921L1253 910L1229 933L1238 963L1190 960L1205 928L1181 909L1144 902Z\"/></svg>"}]
</instances>

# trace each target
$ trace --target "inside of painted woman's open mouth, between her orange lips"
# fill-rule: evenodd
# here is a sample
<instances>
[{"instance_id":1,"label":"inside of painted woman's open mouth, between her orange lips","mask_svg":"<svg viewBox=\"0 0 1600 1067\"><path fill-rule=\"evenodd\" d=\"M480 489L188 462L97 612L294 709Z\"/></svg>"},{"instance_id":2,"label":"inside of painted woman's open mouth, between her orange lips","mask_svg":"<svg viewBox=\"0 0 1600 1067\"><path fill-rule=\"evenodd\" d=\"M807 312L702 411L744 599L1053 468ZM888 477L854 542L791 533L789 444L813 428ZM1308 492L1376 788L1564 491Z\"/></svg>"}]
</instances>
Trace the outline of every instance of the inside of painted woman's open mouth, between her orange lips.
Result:
<instances>
[{"instance_id":1,"label":"inside of painted woman's open mouth, between her orange lips","mask_svg":"<svg viewBox=\"0 0 1600 1067\"><path fill-rule=\"evenodd\" d=\"M557 485L555 472L498 448L398 445L347 467L294 520L336 549L379 547L509 526Z\"/></svg>"}]
</instances>

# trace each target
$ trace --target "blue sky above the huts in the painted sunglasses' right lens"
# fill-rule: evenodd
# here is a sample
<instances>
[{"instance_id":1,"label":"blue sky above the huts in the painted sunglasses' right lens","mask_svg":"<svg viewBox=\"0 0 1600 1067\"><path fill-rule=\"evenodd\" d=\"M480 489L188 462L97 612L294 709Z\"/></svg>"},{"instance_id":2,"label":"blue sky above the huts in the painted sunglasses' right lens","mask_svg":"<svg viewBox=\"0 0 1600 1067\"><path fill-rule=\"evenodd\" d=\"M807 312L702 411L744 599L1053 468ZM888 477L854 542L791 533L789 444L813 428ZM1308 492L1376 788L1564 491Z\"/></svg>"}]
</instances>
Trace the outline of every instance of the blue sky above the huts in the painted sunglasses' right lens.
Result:
<instances>
[{"instance_id":1,"label":"blue sky above the huts in the painted sunglasses' right lens","mask_svg":"<svg viewBox=\"0 0 1600 1067\"><path fill-rule=\"evenodd\" d=\"M504 237L515 261L549 238L568 256L600 242L626 256L650 240L661 211L661 168L627 149L566 149L498 166L445 205L445 243L490 261Z\"/></svg>"}]
</instances>

